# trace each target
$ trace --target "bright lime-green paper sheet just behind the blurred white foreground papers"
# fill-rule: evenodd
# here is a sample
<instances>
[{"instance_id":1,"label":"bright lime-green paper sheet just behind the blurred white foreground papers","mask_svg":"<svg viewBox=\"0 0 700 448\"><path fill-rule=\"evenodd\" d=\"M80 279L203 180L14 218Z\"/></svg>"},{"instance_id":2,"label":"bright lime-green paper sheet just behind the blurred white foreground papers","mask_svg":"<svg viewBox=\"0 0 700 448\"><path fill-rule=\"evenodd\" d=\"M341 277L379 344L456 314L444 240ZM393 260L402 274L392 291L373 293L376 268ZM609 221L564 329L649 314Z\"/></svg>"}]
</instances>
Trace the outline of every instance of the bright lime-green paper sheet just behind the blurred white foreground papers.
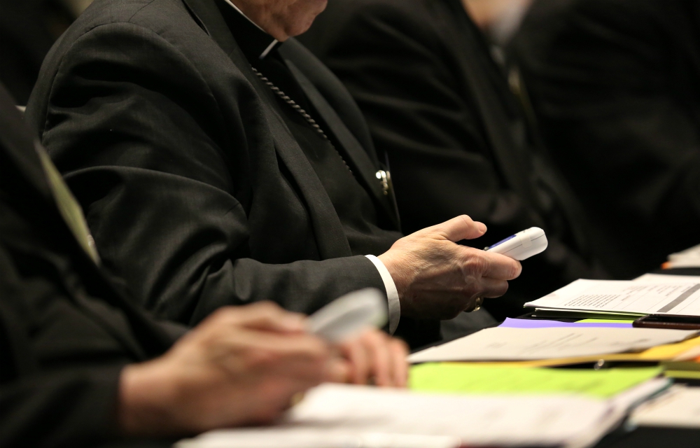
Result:
<instances>
[{"instance_id":1,"label":"bright lime-green paper sheet just behind the blurred white foreground papers","mask_svg":"<svg viewBox=\"0 0 700 448\"><path fill-rule=\"evenodd\" d=\"M661 373L660 367L549 369L426 363L411 367L413 391L446 393L582 393L608 398Z\"/></svg>"}]
</instances>

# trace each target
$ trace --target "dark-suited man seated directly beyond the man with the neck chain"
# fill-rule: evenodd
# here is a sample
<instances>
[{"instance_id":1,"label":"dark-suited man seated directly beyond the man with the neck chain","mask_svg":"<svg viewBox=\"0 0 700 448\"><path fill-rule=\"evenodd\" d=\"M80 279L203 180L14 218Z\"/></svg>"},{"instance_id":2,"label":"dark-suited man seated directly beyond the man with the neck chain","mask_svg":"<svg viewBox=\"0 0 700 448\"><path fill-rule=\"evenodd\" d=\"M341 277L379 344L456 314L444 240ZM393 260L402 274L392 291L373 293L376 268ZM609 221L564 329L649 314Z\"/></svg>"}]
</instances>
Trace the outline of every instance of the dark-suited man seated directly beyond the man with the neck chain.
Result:
<instances>
[{"instance_id":1,"label":"dark-suited man seated directly beyond the man with the neck chain","mask_svg":"<svg viewBox=\"0 0 700 448\"><path fill-rule=\"evenodd\" d=\"M493 30L505 3L335 0L300 37L344 82L377 150L391 156L407 232L463 213L489 226L477 247L545 229L549 248L524 262L528 275L506 295L511 306L487 306L498 318L569 281L603 275L591 267L576 201L539 150L466 9L473 6L479 25Z\"/></svg>"}]
</instances>

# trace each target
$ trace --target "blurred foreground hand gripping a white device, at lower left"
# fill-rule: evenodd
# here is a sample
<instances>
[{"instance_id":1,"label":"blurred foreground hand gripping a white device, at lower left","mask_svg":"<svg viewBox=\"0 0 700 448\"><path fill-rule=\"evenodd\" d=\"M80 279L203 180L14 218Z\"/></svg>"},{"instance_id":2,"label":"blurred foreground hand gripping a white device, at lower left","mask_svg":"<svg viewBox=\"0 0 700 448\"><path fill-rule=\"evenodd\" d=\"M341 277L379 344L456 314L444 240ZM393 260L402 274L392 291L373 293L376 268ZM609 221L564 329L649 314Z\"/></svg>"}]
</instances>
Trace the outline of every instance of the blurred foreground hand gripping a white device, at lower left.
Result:
<instances>
[{"instance_id":1,"label":"blurred foreground hand gripping a white device, at lower left","mask_svg":"<svg viewBox=\"0 0 700 448\"><path fill-rule=\"evenodd\" d=\"M270 303L223 308L164 356L125 367L118 419L128 435L267 423L295 394L349 373L346 360L306 332L304 316Z\"/></svg>"}]
</instances>

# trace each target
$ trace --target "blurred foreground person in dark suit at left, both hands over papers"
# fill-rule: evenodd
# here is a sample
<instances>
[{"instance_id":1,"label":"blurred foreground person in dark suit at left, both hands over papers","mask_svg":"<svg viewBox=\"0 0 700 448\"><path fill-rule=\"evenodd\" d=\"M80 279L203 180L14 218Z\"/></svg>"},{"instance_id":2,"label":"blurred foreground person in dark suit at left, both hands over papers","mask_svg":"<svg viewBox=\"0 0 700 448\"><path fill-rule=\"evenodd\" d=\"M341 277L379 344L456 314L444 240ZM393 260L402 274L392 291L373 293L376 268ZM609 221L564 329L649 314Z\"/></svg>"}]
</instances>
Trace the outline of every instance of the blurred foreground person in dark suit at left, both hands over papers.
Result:
<instances>
[{"instance_id":1,"label":"blurred foreground person in dark suit at left, both hands over papers","mask_svg":"<svg viewBox=\"0 0 700 448\"><path fill-rule=\"evenodd\" d=\"M0 85L1 447L195 434L271 421L323 380L405 384L403 344L377 330L339 346L344 360L302 316L258 303L184 335L119 284Z\"/></svg>"}]
</instances>

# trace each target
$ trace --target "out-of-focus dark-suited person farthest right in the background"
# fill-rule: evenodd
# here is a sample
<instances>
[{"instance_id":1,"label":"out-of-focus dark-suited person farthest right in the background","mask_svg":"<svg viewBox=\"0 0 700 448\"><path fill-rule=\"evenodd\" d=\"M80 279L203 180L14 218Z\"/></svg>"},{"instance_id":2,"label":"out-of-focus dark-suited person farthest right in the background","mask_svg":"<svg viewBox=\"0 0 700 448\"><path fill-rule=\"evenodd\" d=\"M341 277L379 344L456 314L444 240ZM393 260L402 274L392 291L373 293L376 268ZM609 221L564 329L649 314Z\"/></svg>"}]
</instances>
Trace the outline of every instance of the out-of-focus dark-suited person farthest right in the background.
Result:
<instances>
[{"instance_id":1,"label":"out-of-focus dark-suited person farthest right in the background","mask_svg":"<svg viewBox=\"0 0 700 448\"><path fill-rule=\"evenodd\" d=\"M514 56L552 158L630 278L700 242L700 3L543 0Z\"/></svg>"}]
</instances>

